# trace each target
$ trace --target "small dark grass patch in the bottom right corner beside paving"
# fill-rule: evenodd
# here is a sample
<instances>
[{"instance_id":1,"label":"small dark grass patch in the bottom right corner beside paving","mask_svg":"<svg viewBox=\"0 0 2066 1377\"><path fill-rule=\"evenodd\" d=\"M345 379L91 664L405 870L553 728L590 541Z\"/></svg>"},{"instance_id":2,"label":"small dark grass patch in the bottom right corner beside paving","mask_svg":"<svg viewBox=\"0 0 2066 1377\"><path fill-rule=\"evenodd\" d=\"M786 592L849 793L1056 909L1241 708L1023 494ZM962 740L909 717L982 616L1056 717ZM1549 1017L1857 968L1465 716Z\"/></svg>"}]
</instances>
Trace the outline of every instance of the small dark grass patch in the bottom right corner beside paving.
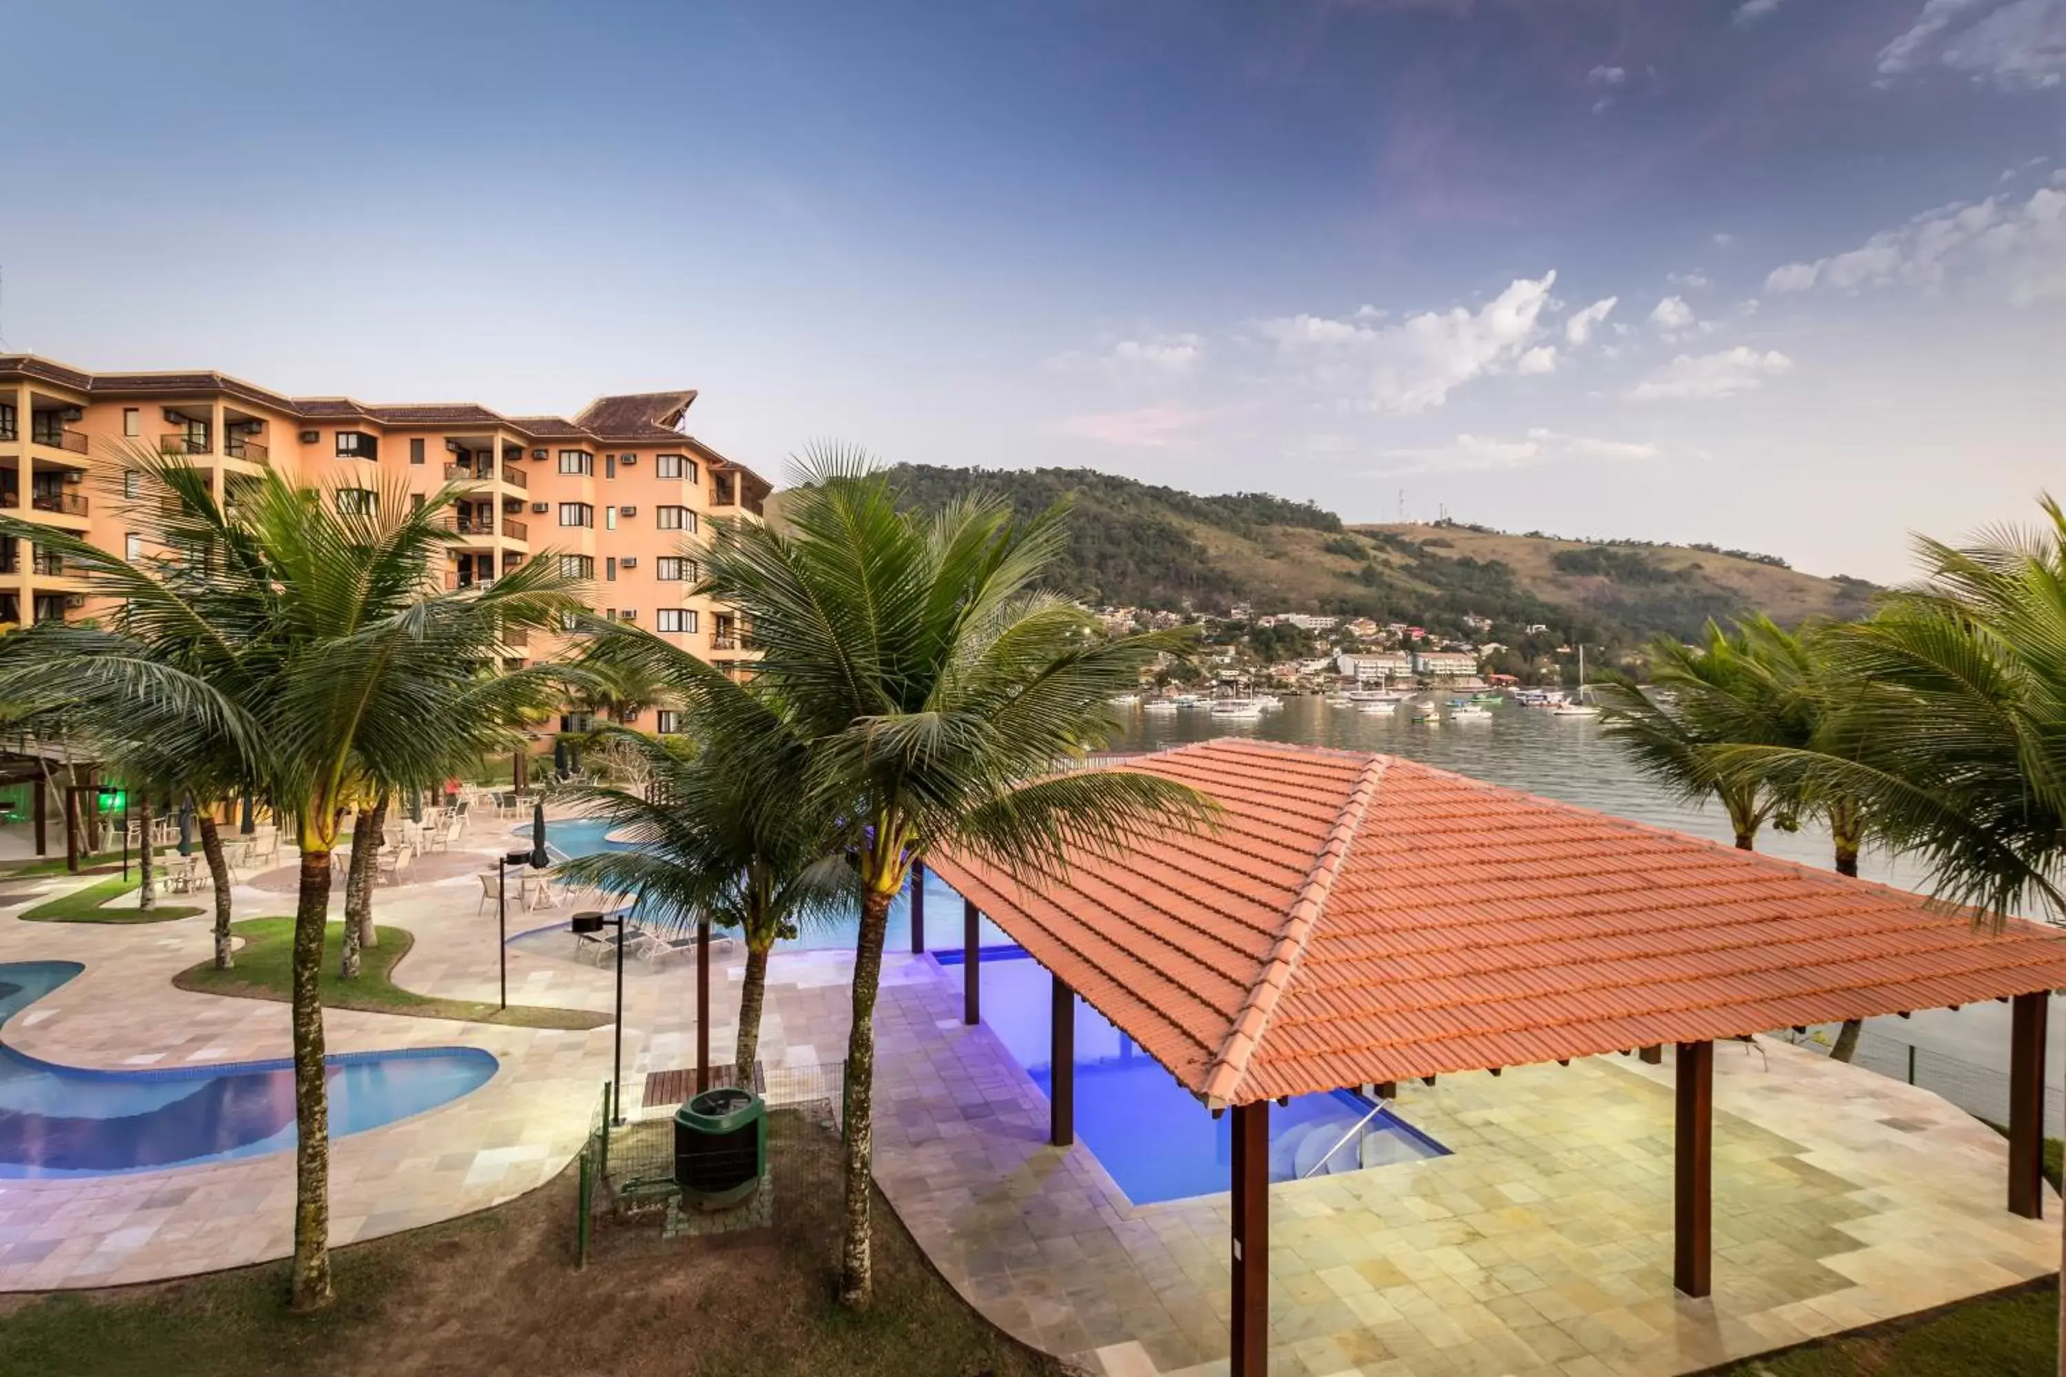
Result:
<instances>
[{"instance_id":1,"label":"small dark grass patch in the bottom right corner beside paving","mask_svg":"<svg viewBox=\"0 0 2066 1377\"><path fill-rule=\"evenodd\" d=\"M2045 1280L1738 1363L1717 1377L2052 1377L2058 1336L2060 1292Z\"/></svg>"}]
</instances>

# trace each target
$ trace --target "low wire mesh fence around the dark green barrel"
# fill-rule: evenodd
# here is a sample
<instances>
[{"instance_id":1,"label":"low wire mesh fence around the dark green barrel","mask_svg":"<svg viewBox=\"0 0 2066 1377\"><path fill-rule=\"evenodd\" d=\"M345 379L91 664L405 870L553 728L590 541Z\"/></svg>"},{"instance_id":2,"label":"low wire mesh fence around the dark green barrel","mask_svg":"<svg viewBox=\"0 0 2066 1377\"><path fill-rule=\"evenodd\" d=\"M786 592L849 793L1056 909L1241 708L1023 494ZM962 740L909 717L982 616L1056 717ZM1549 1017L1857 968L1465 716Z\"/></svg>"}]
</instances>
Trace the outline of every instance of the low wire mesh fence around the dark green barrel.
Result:
<instances>
[{"instance_id":1,"label":"low wire mesh fence around the dark green barrel","mask_svg":"<svg viewBox=\"0 0 2066 1377\"><path fill-rule=\"evenodd\" d=\"M711 1088L731 1084L713 1067ZM682 1239L824 1226L824 1202L841 1195L839 1104L845 1065L756 1067L764 1129L702 1138L676 1160L676 1111L690 1086L682 1074L647 1078L647 1102L612 1113L603 1084L581 1152L574 1232L581 1266L638 1255ZM678 1098L680 1096L680 1098ZM632 1096L626 1094L626 1100ZM764 1138L762 1138L764 1131ZM688 1189L684 1189L684 1179Z\"/></svg>"}]
</instances>

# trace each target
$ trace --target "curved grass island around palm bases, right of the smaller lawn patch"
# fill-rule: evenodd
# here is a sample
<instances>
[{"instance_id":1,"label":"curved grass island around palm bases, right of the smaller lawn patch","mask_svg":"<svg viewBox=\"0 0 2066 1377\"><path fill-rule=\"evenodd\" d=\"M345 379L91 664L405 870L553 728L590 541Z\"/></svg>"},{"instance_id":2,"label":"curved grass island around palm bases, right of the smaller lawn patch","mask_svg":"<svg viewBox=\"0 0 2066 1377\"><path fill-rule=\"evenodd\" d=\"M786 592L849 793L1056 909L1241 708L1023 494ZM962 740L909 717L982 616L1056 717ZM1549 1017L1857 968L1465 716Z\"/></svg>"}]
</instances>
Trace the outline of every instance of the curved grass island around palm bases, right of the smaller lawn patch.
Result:
<instances>
[{"instance_id":1,"label":"curved grass island around palm bases, right of the smaller lawn patch","mask_svg":"<svg viewBox=\"0 0 2066 1377\"><path fill-rule=\"evenodd\" d=\"M345 941L345 925L331 923L322 939L322 1003L331 1010L368 1010L374 1014L409 1014L413 1018L455 1018L473 1024L514 1024L519 1028L601 1028L607 1014L591 1010L547 1010L512 1003L498 1010L471 999L436 999L417 995L393 981L395 962L409 954L415 937L405 927L376 925L380 946L366 948L359 979L337 974ZM217 970L213 962L188 966L171 976L180 989L244 999L287 999L287 968L293 956L293 919L246 919L229 931L244 937L233 970Z\"/></svg>"}]
</instances>

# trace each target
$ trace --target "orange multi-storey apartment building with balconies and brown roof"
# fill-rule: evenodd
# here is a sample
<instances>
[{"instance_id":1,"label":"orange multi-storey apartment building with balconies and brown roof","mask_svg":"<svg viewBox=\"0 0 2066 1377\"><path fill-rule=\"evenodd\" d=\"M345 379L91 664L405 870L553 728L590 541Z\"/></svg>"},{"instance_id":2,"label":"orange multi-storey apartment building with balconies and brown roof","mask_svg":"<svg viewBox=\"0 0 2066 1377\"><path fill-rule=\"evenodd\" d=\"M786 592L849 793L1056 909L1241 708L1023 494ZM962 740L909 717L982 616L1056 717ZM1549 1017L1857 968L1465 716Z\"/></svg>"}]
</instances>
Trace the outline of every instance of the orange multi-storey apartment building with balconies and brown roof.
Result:
<instances>
[{"instance_id":1,"label":"orange multi-storey apartment building with balconies and brown roof","mask_svg":"<svg viewBox=\"0 0 2066 1377\"><path fill-rule=\"evenodd\" d=\"M721 667L752 659L725 605L690 597L711 518L758 520L771 485L688 434L692 388L599 396L574 417L500 415L473 403L372 405L285 396L217 372L95 374L0 355L0 508L143 553L124 512L124 456L178 454L219 500L277 469L304 483L411 495L469 485L444 584L465 588L552 555L589 580L589 603ZM134 489L128 491L134 495ZM58 551L0 537L0 623L89 615ZM537 638L533 638L537 640ZM550 654L556 646L512 646ZM647 729L671 727L647 712Z\"/></svg>"}]
</instances>

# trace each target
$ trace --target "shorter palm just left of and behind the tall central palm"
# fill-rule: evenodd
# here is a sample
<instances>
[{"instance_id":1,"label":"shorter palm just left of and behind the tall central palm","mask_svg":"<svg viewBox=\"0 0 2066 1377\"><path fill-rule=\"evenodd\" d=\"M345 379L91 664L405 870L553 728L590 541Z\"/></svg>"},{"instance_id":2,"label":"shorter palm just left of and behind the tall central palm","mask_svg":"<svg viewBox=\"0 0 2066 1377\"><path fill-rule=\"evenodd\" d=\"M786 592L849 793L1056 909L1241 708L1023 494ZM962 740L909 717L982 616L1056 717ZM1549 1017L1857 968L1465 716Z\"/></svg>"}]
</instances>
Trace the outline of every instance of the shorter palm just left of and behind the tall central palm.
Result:
<instances>
[{"instance_id":1,"label":"shorter palm just left of and behind the tall central palm","mask_svg":"<svg viewBox=\"0 0 2066 1377\"><path fill-rule=\"evenodd\" d=\"M624 663L707 679L686 723L696 751L605 727L614 749L638 760L647 787L587 784L570 793L609 822L612 832L636 842L632 851L603 851L564 869L605 892L634 894L645 923L690 929L707 921L740 931L746 979L733 1061L738 1084L750 1086L769 952L806 925L851 912L853 869L828 848L831 820L800 807L793 780L806 766L808 743L769 692L713 675L702 661L647 632L618 623L601 636L597 650Z\"/></svg>"}]
</instances>

